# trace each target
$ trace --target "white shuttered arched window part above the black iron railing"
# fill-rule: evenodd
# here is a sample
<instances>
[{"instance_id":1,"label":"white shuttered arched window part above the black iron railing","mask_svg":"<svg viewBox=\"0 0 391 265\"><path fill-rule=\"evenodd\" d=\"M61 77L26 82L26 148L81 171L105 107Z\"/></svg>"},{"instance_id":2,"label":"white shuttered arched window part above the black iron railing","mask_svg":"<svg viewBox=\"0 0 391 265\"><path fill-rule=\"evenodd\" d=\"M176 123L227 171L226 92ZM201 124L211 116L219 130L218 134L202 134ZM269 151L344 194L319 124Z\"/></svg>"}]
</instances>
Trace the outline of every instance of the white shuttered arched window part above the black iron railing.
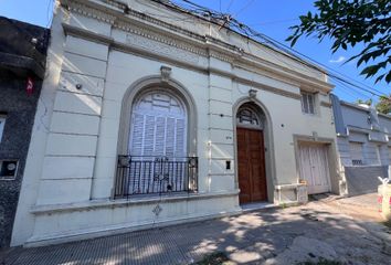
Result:
<instances>
[{"instance_id":1,"label":"white shuttered arched window part above the black iron railing","mask_svg":"<svg viewBox=\"0 0 391 265\"><path fill-rule=\"evenodd\" d=\"M134 102L129 155L142 157L187 156L187 109L167 91L141 94Z\"/></svg>"}]
</instances>

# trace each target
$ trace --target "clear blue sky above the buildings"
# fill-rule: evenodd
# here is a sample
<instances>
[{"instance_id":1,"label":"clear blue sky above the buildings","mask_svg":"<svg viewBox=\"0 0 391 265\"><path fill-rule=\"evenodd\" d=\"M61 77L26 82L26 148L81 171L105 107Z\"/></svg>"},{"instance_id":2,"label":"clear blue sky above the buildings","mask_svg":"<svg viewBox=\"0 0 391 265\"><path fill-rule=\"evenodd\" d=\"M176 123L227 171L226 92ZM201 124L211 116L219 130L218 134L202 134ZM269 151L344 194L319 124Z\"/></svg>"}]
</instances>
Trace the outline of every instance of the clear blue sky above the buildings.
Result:
<instances>
[{"instance_id":1,"label":"clear blue sky above the buildings","mask_svg":"<svg viewBox=\"0 0 391 265\"><path fill-rule=\"evenodd\" d=\"M180 0L175 0L179 2ZM226 12L235 19L252 26L279 42L290 34L289 26L298 23L298 17L313 11L311 0L192 0L201 6ZM52 0L0 0L0 15L25 21L32 24L47 26L51 21ZM288 44L288 43L286 43ZM331 43L319 43L314 38L300 39L295 50L327 65L328 67L349 76L358 86L374 87L384 94L391 93L391 87L385 83L373 84L373 80L364 80L353 63L342 64L356 51L330 52ZM335 94L341 99L355 102L358 98L377 100L377 96L353 88L349 85L336 84Z\"/></svg>"}]
</instances>

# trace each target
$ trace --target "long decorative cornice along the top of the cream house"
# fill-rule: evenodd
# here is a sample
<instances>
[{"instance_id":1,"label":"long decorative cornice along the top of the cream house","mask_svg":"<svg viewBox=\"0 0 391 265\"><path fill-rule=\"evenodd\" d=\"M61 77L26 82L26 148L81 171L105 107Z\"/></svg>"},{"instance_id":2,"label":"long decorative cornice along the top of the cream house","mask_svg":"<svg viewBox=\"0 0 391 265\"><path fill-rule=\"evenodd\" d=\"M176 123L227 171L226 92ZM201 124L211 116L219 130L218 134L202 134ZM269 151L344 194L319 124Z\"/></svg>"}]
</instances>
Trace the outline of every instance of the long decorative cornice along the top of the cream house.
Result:
<instances>
[{"instance_id":1,"label":"long decorative cornice along the top of the cream house","mask_svg":"<svg viewBox=\"0 0 391 265\"><path fill-rule=\"evenodd\" d=\"M249 66L254 67L263 74L266 73L271 78L275 78L290 85L300 86L303 84L316 87L317 91L323 92L329 92L332 88L332 85L327 82L323 82L294 70L283 67L253 54L244 53L243 50L237 46L224 43L209 35L199 35L134 10L129 10L124 13L124 11L117 7L109 7L107 4L110 2L109 0L101 1L101 4L92 1L84 1L82 3L81 0L61 1L63 6L66 3L66 7L72 7L72 10L82 13L83 15L105 21L121 31L130 32L142 38L150 39L155 42L162 43L155 45L156 47L165 47L165 51L168 51L169 49L166 45L169 45L173 46L172 51L176 49L187 51L188 54L186 54L184 57L188 57L188 62L190 62L189 59L191 57L191 61L193 63L196 62L196 57L191 54L197 54L204 57L215 57L221 61L229 62L233 64L233 66L245 65L245 68L249 68ZM131 42L128 42L128 44L131 44Z\"/></svg>"}]
</instances>

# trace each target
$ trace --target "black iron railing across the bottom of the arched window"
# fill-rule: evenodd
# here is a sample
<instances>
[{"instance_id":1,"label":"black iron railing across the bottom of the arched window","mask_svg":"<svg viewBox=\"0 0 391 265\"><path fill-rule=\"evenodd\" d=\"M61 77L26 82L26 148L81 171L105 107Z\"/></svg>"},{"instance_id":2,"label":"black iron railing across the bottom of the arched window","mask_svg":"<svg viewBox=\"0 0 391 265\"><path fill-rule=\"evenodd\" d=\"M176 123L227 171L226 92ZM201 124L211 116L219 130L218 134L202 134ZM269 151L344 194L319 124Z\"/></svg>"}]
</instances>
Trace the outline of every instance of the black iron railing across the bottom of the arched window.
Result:
<instances>
[{"instance_id":1,"label":"black iron railing across the bottom of the arched window","mask_svg":"<svg viewBox=\"0 0 391 265\"><path fill-rule=\"evenodd\" d=\"M115 198L197 191L197 157L118 156Z\"/></svg>"}]
</instances>

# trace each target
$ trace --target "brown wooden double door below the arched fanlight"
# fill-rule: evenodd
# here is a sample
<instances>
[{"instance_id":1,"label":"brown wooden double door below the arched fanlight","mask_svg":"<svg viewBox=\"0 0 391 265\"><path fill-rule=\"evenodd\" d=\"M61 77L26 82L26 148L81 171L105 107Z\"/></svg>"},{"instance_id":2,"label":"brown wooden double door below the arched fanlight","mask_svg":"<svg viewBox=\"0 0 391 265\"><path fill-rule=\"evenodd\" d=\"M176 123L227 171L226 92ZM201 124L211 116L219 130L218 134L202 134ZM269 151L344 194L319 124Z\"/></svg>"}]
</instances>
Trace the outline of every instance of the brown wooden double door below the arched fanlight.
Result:
<instances>
[{"instance_id":1,"label":"brown wooden double door below the arched fanlight","mask_svg":"<svg viewBox=\"0 0 391 265\"><path fill-rule=\"evenodd\" d=\"M263 131L237 128L237 174L240 203L267 200Z\"/></svg>"}]
</instances>

